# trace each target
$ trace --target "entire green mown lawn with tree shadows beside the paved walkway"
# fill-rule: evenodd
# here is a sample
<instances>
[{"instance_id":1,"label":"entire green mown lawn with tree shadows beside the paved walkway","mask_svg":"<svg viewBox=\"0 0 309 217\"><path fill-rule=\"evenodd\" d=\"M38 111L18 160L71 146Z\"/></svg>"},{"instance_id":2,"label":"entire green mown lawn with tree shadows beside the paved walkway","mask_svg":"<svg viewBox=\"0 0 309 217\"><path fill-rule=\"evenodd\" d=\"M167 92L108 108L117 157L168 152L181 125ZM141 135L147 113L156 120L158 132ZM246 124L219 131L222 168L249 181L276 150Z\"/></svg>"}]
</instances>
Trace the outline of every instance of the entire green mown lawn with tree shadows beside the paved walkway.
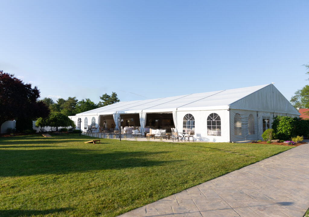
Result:
<instances>
[{"instance_id":1,"label":"entire green mown lawn with tree shadows beside the paved walkway","mask_svg":"<svg viewBox=\"0 0 309 217\"><path fill-rule=\"evenodd\" d=\"M116 216L291 148L92 139L0 138L0 216Z\"/></svg>"}]
</instances>

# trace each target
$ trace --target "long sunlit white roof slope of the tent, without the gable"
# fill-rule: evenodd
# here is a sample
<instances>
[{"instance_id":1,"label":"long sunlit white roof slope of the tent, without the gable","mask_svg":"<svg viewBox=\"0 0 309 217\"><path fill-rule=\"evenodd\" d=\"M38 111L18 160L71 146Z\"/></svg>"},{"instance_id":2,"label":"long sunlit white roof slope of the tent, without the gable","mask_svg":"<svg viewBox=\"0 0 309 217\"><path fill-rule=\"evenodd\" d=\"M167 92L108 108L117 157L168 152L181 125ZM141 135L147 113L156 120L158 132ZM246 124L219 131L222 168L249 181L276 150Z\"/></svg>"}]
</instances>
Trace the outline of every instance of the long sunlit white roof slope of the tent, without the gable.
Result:
<instances>
[{"instance_id":1,"label":"long sunlit white roof slope of the tent, without the gable","mask_svg":"<svg viewBox=\"0 0 309 217\"><path fill-rule=\"evenodd\" d=\"M139 112L171 112L177 110L193 109L208 110L208 108L229 108L231 104L244 97L269 86L259 85L254 87L244 87L230 90L212 91L205 93L195 93L182 96L172 96L148 100L134 100L118 102L101 108L96 108L79 115L92 114L113 114L113 113L139 113ZM236 103L237 104L237 103Z\"/></svg>"}]
</instances>

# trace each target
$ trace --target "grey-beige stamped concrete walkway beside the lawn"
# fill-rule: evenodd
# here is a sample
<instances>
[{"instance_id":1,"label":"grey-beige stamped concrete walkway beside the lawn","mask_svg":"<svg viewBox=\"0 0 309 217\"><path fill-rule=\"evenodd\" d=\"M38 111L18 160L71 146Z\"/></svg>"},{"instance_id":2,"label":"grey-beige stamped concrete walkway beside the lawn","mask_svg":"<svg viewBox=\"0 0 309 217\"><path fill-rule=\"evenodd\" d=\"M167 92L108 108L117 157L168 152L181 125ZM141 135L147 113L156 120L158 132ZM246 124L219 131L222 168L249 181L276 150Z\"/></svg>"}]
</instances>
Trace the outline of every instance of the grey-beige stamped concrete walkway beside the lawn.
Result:
<instances>
[{"instance_id":1,"label":"grey-beige stamped concrete walkway beside the lawn","mask_svg":"<svg viewBox=\"0 0 309 217\"><path fill-rule=\"evenodd\" d=\"M307 143L120 216L302 217L308 207Z\"/></svg>"}]
</instances>

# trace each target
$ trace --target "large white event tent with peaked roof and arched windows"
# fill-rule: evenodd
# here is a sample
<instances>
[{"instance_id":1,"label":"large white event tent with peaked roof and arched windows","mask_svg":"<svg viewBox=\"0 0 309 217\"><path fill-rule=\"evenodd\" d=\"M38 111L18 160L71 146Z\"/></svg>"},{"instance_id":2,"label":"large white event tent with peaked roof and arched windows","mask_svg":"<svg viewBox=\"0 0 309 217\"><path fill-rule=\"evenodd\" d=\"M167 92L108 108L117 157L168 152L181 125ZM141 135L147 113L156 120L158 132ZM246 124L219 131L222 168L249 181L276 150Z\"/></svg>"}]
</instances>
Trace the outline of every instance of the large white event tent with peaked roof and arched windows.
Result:
<instances>
[{"instance_id":1,"label":"large white event tent with peaked roof and arched windows","mask_svg":"<svg viewBox=\"0 0 309 217\"><path fill-rule=\"evenodd\" d=\"M273 117L300 115L273 84L267 84L118 102L69 117L77 126L78 118L82 118L83 130L83 126L91 121L96 126L103 126L100 123L102 117L112 117L114 123L118 123L120 116L138 115L138 125L143 132L147 115L154 113L170 114L178 132L187 130L189 125L189 128L195 131L196 140L211 142L261 139L263 131L271 127Z\"/></svg>"}]
</instances>

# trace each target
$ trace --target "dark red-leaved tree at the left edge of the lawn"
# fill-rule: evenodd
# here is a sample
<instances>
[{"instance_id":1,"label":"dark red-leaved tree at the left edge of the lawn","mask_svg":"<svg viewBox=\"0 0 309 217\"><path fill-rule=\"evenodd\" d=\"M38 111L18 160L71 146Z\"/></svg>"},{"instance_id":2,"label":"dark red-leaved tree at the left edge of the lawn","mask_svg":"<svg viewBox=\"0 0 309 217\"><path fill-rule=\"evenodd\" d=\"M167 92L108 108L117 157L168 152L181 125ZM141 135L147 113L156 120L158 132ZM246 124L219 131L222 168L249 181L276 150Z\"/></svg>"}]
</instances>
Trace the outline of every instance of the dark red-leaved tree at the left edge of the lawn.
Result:
<instances>
[{"instance_id":1,"label":"dark red-leaved tree at the left edge of the lawn","mask_svg":"<svg viewBox=\"0 0 309 217\"><path fill-rule=\"evenodd\" d=\"M1 125L17 117L47 117L49 108L41 101L37 87L0 70L0 130Z\"/></svg>"}]
</instances>

